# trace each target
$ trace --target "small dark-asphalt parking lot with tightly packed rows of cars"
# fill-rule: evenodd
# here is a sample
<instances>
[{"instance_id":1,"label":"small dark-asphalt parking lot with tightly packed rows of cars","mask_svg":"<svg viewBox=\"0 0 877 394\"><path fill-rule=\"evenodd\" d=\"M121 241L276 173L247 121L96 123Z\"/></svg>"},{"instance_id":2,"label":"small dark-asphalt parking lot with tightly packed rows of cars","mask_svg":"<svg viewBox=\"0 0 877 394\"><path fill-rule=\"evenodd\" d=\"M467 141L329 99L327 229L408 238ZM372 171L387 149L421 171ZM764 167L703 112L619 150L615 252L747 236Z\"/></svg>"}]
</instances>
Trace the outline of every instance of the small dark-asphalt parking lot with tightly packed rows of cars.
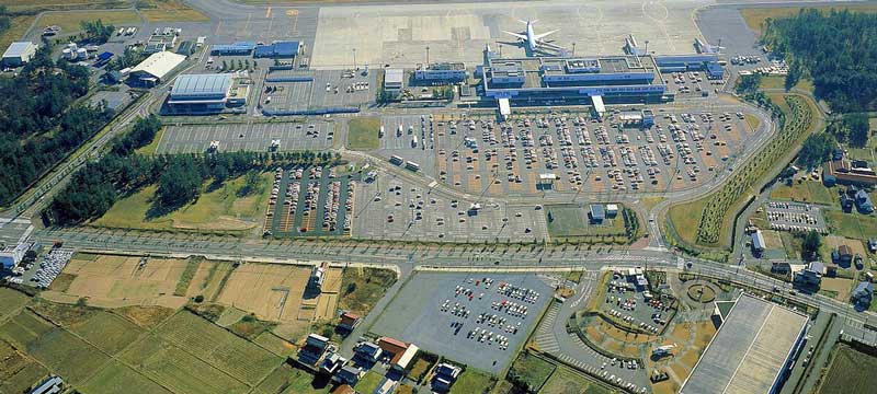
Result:
<instances>
[{"instance_id":1,"label":"small dark-asphalt parking lot with tightly packed rows of cars","mask_svg":"<svg viewBox=\"0 0 877 394\"><path fill-rule=\"evenodd\" d=\"M322 166L275 170L265 234L350 235L357 179Z\"/></svg>"}]
</instances>

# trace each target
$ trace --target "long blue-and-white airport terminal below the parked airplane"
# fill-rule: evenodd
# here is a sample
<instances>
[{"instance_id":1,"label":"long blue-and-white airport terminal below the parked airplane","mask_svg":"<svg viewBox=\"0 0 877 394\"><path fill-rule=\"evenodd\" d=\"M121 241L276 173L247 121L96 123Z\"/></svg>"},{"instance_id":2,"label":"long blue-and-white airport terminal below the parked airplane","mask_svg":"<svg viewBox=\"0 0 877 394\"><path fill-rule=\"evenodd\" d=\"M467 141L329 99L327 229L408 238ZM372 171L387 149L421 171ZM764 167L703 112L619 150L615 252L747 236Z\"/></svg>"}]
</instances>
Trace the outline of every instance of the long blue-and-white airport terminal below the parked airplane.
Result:
<instances>
[{"instance_id":1,"label":"long blue-and-white airport terminal below the parked airplane","mask_svg":"<svg viewBox=\"0 0 877 394\"><path fill-rule=\"evenodd\" d=\"M487 99L510 104L592 104L600 114L604 101L652 103L672 100L651 56L497 58L486 49L476 70Z\"/></svg>"}]
</instances>

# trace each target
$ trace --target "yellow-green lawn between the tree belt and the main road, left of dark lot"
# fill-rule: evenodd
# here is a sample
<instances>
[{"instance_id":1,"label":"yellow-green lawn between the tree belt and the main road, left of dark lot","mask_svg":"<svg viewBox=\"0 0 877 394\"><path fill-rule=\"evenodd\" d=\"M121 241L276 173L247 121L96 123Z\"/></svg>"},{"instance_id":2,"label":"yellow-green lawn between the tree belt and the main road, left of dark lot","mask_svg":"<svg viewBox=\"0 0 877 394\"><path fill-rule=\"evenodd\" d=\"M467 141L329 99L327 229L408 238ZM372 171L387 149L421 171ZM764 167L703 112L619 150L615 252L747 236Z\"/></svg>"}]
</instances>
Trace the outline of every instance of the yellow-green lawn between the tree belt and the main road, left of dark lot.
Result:
<instances>
[{"instance_id":1,"label":"yellow-green lawn between the tree belt and the main road, left of dark lot","mask_svg":"<svg viewBox=\"0 0 877 394\"><path fill-rule=\"evenodd\" d=\"M96 227L140 230L184 230L241 232L261 225L273 174L261 174L258 190L239 197L246 176L226 181L215 190L205 182L201 196L192 204L159 218L149 218L157 186L151 185L119 199L106 213L92 221Z\"/></svg>"}]
</instances>

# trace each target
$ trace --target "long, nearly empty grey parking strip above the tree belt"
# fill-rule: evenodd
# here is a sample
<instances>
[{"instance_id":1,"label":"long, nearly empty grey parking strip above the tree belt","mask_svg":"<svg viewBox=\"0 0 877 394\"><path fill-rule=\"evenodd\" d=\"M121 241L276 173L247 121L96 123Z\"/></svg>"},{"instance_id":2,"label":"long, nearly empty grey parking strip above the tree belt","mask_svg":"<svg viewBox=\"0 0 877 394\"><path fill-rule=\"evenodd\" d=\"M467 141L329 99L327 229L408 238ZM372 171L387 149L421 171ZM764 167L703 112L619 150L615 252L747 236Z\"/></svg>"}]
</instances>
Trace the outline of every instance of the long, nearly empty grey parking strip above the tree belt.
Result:
<instances>
[{"instance_id":1,"label":"long, nearly empty grey parking strip above the tree belt","mask_svg":"<svg viewBox=\"0 0 877 394\"><path fill-rule=\"evenodd\" d=\"M332 146L334 124L309 123L247 123L215 125L166 126L158 143L158 153L206 152L217 141L219 152L267 151L272 141L280 140L277 151L323 150Z\"/></svg>"}]
</instances>

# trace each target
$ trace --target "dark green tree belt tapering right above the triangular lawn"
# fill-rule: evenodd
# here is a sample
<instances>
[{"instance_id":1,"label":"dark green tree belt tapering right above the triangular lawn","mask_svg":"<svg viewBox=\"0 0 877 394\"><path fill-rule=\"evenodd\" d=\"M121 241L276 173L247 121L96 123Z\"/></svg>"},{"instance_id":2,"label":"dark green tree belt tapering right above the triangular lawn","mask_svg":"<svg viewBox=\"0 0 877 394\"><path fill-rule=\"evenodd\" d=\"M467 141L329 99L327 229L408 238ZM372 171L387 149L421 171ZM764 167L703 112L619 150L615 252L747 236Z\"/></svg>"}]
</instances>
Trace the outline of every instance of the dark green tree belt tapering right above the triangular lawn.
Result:
<instances>
[{"instance_id":1,"label":"dark green tree belt tapering right above the triangular lawn","mask_svg":"<svg viewBox=\"0 0 877 394\"><path fill-rule=\"evenodd\" d=\"M288 165L337 165L341 162L338 153L311 151L137 154L136 150L149 144L161 127L155 115L138 118L128 132L113 140L107 154L73 174L66 188L43 212L44 219L58 225L96 219L118 198L152 184L158 187L149 215L157 217L196 200L207 181L212 181L212 187L218 187L227 179L247 174L247 186L253 189L261 170Z\"/></svg>"}]
</instances>

